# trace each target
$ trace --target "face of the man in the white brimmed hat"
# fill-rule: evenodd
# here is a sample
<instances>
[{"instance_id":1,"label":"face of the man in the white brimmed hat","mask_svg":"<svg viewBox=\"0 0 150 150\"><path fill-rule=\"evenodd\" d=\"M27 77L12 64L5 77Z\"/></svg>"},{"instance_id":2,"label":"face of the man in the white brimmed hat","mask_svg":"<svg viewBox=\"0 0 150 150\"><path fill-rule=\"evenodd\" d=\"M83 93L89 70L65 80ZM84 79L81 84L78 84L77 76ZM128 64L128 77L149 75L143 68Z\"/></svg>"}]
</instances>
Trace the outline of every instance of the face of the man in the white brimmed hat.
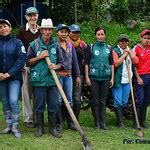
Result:
<instances>
[{"instance_id":1,"label":"face of the man in the white brimmed hat","mask_svg":"<svg viewBox=\"0 0 150 150\"><path fill-rule=\"evenodd\" d=\"M51 28L42 28L41 34L44 40L49 40L52 36L53 29Z\"/></svg>"}]
</instances>

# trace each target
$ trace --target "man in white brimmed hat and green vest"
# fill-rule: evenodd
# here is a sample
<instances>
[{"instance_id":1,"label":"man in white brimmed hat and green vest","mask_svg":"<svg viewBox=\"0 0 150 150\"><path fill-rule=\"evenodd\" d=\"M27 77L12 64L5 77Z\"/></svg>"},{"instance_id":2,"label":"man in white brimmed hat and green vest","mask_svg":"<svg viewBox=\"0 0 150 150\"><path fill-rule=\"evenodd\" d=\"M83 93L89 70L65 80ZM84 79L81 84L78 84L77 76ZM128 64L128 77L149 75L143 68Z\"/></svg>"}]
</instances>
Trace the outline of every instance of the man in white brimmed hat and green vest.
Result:
<instances>
[{"instance_id":1,"label":"man in white brimmed hat and green vest","mask_svg":"<svg viewBox=\"0 0 150 150\"><path fill-rule=\"evenodd\" d=\"M59 70L62 68L63 57L58 43L52 37L52 20L42 19L41 36L30 43L28 48L27 64L31 67L31 81L34 96L34 111L37 116L37 131L35 136L40 137L44 133L44 111L47 103L48 126L50 133L59 138L60 134L56 130L56 113L58 111L59 92L56 83L49 70ZM52 64L47 66L45 58L49 57Z\"/></svg>"}]
</instances>

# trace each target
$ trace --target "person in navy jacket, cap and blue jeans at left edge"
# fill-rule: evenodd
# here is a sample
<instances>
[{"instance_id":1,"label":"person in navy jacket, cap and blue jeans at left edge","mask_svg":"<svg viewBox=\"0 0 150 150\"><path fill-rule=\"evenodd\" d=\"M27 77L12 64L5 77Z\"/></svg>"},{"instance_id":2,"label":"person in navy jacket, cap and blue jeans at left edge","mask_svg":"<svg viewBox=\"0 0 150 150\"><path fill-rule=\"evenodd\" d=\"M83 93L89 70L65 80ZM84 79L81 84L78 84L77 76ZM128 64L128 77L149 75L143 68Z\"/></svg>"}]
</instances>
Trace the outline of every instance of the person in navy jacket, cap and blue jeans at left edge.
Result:
<instances>
[{"instance_id":1,"label":"person in navy jacket, cap and blue jeans at left edge","mask_svg":"<svg viewBox=\"0 0 150 150\"><path fill-rule=\"evenodd\" d=\"M11 31L10 22L0 19L0 97L6 121L6 128L1 133L13 133L20 138L19 95L26 52L21 40L12 36Z\"/></svg>"}]
</instances>

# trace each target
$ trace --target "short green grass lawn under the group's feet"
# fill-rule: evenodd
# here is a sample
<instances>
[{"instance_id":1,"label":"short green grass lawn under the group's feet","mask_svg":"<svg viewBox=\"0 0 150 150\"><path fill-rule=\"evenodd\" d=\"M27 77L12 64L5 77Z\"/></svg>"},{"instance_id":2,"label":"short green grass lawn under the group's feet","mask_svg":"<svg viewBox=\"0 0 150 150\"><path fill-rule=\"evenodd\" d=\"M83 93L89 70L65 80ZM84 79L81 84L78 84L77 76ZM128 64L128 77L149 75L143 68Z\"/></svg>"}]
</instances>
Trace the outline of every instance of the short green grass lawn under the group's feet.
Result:
<instances>
[{"instance_id":1,"label":"short green grass lawn under the group's feet","mask_svg":"<svg viewBox=\"0 0 150 150\"><path fill-rule=\"evenodd\" d=\"M21 106L21 105L20 105ZM46 115L45 115L46 116ZM148 120L149 121L149 120ZM138 139L132 128L132 121L125 120L126 129L118 129L115 126L114 112L107 110L108 131L94 129L93 117L90 110L81 111L80 125L88 136L94 150L148 150L149 144L135 144ZM0 103L0 130L5 127ZM63 137L53 138L48 133L47 118L45 117L45 134L41 138L34 137L36 129L27 129L23 125L22 110L20 109L21 139L15 139L11 134L0 134L0 149L3 150L82 150L82 141L78 132L64 130ZM145 140L149 140L150 129L145 129ZM134 144L123 144L124 139L130 139Z\"/></svg>"}]
</instances>

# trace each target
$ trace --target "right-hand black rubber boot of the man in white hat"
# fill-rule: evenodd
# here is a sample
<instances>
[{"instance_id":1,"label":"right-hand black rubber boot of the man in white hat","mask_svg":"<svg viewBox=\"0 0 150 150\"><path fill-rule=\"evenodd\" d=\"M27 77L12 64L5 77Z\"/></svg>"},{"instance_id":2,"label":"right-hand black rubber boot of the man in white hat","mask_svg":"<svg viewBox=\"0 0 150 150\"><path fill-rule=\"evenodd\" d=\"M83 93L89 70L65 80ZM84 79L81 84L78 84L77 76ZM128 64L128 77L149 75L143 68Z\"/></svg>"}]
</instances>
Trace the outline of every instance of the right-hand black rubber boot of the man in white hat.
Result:
<instances>
[{"instance_id":1,"label":"right-hand black rubber boot of the man in white hat","mask_svg":"<svg viewBox=\"0 0 150 150\"><path fill-rule=\"evenodd\" d=\"M56 137L60 138L61 134L56 130L56 113L48 112L48 126L50 133Z\"/></svg>"}]
</instances>

